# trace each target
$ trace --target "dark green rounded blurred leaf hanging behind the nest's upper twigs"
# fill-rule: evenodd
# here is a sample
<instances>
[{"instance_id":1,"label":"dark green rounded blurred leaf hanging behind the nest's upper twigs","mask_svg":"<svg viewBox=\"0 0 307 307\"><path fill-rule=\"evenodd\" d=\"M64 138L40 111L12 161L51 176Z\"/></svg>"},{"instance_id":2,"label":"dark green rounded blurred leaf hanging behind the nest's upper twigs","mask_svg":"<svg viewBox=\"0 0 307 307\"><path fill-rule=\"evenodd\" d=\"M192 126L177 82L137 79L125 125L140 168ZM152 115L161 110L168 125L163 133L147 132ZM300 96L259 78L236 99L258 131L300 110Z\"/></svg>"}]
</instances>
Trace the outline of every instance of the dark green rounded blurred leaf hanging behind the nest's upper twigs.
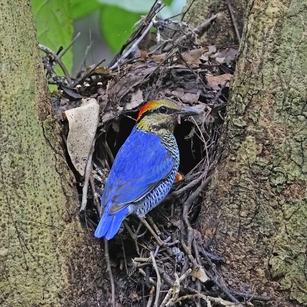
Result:
<instances>
[{"instance_id":1,"label":"dark green rounded blurred leaf hanging behind the nest's upper twigs","mask_svg":"<svg viewBox=\"0 0 307 307\"><path fill-rule=\"evenodd\" d=\"M101 9L100 29L107 45L113 52L116 53L120 50L135 30L135 23L140 19L140 13L128 12L116 6L104 6Z\"/></svg>"}]
</instances>

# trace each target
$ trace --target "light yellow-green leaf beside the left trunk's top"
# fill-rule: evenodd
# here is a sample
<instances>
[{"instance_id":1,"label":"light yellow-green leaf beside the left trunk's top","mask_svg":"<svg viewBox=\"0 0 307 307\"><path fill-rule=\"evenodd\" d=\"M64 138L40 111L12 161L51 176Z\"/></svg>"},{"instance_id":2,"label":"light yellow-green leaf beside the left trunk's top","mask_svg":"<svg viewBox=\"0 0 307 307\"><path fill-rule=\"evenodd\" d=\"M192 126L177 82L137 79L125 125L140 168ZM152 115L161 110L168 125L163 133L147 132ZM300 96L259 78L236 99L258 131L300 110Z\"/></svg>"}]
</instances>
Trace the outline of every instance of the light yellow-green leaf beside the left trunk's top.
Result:
<instances>
[{"instance_id":1,"label":"light yellow-green leaf beside the left trunk's top","mask_svg":"<svg viewBox=\"0 0 307 307\"><path fill-rule=\"evenodd\" d=\"M72 41L73 24L69 0L32 0L34 23L39 43L57 52ZM73 52L70 49L62 57L68 71L72 70ZM59 70L57 70L59 72Z\"/></svg>"}]
</instances>

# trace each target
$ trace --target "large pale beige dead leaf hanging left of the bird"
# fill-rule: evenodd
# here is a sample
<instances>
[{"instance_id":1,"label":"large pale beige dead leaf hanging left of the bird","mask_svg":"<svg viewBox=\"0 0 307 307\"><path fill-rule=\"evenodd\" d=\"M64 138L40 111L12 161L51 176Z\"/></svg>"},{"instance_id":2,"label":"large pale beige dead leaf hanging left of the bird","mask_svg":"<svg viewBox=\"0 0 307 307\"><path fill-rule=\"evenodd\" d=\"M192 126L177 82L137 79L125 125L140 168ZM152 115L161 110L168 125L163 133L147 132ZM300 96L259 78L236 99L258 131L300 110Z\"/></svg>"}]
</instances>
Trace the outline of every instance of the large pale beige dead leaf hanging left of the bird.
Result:
<instances>
[{"instance_id":1,"label":"large pale beige dead leaf hanging left of the bird","mask_svg":"<svg viewBox=\"0 0 307 307\"><path fill-rule=\"evenodd\" d=\"M96 99L82 99L82 104L65 115L69 122L67 149L76 170L84 176L87 157L98 125L99 104Z\"/></svg>"}]
</instances>

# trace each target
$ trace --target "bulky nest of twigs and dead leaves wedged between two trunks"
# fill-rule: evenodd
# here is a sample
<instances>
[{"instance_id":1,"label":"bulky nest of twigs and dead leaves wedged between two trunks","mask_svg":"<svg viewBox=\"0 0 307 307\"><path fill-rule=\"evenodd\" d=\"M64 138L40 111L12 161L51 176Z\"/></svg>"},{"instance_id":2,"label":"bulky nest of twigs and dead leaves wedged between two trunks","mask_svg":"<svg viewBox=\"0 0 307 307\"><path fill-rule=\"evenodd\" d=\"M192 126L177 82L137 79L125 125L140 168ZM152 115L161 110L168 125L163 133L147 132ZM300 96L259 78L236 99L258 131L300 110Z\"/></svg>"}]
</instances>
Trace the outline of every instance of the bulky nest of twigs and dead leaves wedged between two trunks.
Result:
<instances>
[{"instance_id":1,"label":"bulky nest of twigs and dead leaves wedged between two trunks","mask_svg":"<svg viewBox=\"0 0 307 307\"><path fill-rule=\"evenodd\" d=\"M105 240L105 266L112 286L105 304L116 304L116 292L123 306L211 306L231 302L243 306L239 302L255 298L226 286L218 274L223 259L211 254L201 229L202 203L214 168L237 48L198 44L198 37L218 14L191 29L183 21L158 19L160 9L156 2L107 67L101 66L102 61L85 66L75 78L69 76L61 54L40 46L46 53L43 64L49 82L58 86L53 95L54 113L63 127L68 149L71 122L67 111L82 106L86 98L94 99L99 106L98 119L91 126L94 134L83 161L83 176L77 171L72 150L68 150L80 195L81 220L91 224L94 232L108 171L142 104L168 98L193 107L201 114L183 121L175 132L182 179L146 217L167 243L159 247L138 218L128 216L116 237ZM57 64L63 76L55 73Z\"/></svg>"}]
</instances>

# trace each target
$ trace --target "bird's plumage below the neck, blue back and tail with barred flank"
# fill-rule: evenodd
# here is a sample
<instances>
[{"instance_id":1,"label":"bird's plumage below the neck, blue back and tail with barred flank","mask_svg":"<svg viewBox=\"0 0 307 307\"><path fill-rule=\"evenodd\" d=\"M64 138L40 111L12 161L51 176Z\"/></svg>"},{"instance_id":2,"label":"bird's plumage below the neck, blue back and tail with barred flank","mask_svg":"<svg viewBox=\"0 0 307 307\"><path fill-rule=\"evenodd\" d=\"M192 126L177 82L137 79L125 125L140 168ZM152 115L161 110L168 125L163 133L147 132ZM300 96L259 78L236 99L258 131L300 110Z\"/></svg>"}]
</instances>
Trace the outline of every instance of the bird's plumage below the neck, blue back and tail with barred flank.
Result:
<instances>
[{"instance_id":1,"label":"bird's plumage below the neck, blue back and tail with barred flank","mask_svg":"<svg viewBox=\"0 0 307 307\"><path fill-rule=\"evenodd\" d=\"M177 144L176 148L178 151ZM178 170L179 152L177 156L178 159L167 150L161 137L135 127L120 148L105 183L101 207L106 208L95 236L113 238L124 218L130 213L139 213L138 210L147 204L144 202L146 196L148 201L150 192L155 192L158 187L164 198ZM169 183L161 186L166 179ZM156 199L157 204L151 202L153 205L147 211L161 202L161 197Z\"/></svg>"}]
</instances>

